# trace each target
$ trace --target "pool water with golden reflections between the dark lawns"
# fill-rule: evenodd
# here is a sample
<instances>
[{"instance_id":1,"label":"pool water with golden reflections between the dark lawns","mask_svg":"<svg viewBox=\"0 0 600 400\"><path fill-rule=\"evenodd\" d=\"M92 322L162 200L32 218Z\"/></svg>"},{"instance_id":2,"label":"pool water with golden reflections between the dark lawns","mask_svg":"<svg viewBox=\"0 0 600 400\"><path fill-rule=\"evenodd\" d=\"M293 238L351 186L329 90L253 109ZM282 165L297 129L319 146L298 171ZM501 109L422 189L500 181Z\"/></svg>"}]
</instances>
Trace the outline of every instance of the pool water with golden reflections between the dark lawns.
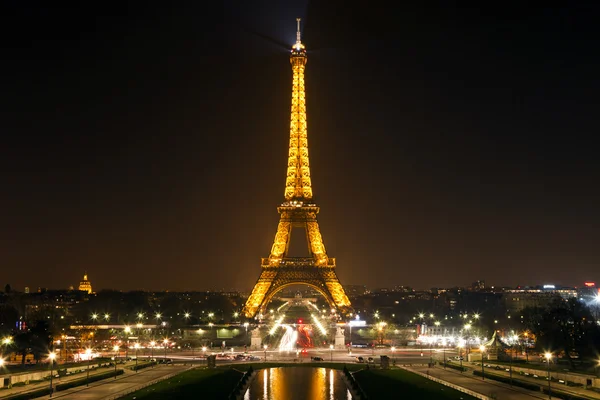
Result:
<instances>
[{"instance_id":1,"label":"pool water with golden reflections between the dark lawns","mask_svg":"<svg viewBox=\"0 0 600 400\"><path fill-rule=\"evenodd\" d=\"M259 370L244 400L350 400L341 372L329 368Z\"/></svg>"}]
</instances>

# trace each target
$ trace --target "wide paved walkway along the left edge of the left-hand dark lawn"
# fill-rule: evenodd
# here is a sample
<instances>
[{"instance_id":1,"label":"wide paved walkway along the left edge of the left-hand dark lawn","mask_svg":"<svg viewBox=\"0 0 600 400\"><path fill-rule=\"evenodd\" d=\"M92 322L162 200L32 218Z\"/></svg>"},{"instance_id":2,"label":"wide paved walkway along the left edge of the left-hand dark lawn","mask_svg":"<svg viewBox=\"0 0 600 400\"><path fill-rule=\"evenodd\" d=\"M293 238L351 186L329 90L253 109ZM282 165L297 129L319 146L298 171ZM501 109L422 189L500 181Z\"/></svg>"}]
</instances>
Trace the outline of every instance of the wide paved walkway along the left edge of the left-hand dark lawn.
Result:
<instances>
[{"instance_id":1,"label":"wide paved walkway along the left edge of the left-hand dark lawn","mask_svg":"<svg viewBox=\"0 0 600 400\"><path fill-rule=\"evenodd\" d=\"M145 368L137 374L133 371L127 371L117 379L105 379L99 382L91 383L89 387L80 386L61 392L55 392L52 399L61 400L110 400L117 398L119 394L130 393L147 386L154 380L165 378L169 375L180 374L190 366L184 365L159 365L154 368ZM48 400L50 396L39 397L41 400Z\"/></svg>"}]
</instances>

